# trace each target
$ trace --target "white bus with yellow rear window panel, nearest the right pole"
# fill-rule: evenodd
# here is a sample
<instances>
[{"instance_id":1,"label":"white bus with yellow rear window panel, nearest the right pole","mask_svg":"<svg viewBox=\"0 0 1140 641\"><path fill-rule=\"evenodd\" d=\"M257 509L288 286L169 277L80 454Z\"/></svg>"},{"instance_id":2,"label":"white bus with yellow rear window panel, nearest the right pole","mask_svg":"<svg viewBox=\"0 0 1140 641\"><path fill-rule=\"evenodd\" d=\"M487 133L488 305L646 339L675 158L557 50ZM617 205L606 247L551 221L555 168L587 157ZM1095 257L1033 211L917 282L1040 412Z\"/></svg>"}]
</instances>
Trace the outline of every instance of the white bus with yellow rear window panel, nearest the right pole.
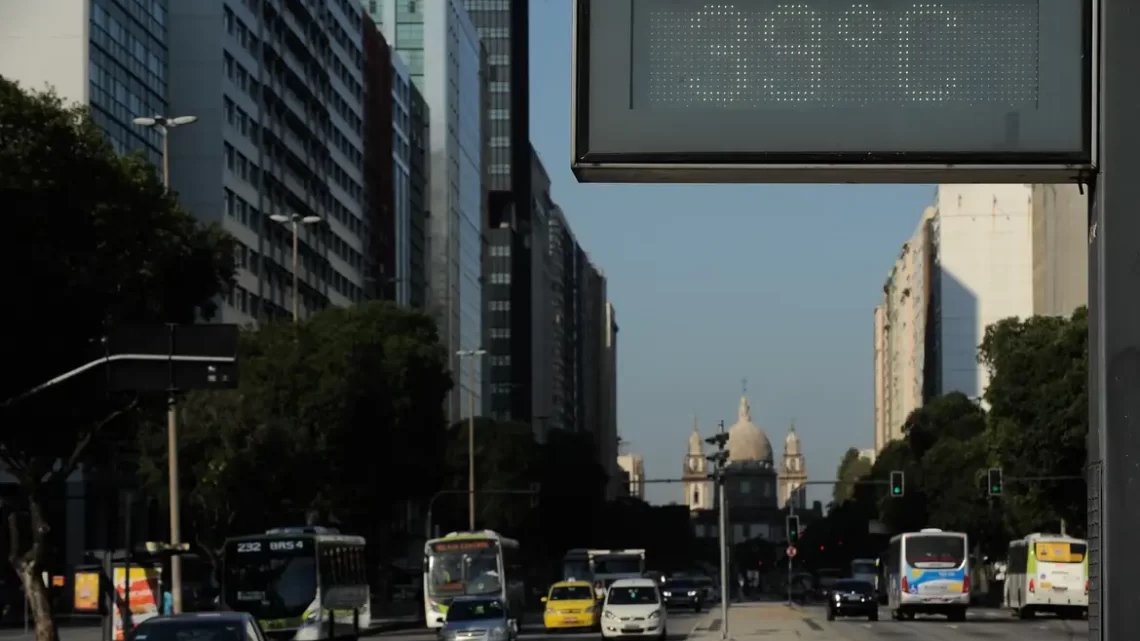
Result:
<instances>
[{"instance_id":1,"label":"white bus with yellow rear window panel, nearest the right pole","mask_svg":"<svg viewBox=\"0 0 1140 641\"><path fill-rule=\"evenodd\" d=\"M1052 612L1089 615L1089 542L1061 534L1031 534L1009 544L1002 606L1020 618Z\"/></svg>"}]
</instances>

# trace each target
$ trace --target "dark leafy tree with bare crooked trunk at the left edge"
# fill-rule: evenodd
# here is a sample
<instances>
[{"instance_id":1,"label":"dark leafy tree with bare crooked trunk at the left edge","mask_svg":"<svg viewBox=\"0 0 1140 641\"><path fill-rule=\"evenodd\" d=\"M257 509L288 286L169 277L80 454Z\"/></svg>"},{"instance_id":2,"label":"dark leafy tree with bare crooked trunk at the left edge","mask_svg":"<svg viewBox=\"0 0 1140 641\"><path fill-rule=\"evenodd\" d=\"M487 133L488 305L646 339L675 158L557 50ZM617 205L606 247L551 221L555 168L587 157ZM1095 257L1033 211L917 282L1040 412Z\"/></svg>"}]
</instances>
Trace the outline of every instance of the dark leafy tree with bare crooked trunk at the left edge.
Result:
<instances>
[{"instance_id":1,"label":"dark leafy tree with bare crooked trunk at the left edge","mask_svg":"<svg viewBox=\"0 0 1140 641\"><path fill-rule=\"evenodd\" d=\"M107 327L211 317L233 278L234 245L182 210L152 165L116 155L82 108L2 78L0 211L9 240L0 266L19 275L6 294L35 301L34 314L5 319L2 357L19 364L0 374L0 462L19 485L18 496L5 500L8 558L30 598L36 640L50 641L40 581L52 525L46 497L95 459L92 444L130 429L140 401L97 393L95 376L16 398L80 365Z\"/></svg>"}]
</instances>

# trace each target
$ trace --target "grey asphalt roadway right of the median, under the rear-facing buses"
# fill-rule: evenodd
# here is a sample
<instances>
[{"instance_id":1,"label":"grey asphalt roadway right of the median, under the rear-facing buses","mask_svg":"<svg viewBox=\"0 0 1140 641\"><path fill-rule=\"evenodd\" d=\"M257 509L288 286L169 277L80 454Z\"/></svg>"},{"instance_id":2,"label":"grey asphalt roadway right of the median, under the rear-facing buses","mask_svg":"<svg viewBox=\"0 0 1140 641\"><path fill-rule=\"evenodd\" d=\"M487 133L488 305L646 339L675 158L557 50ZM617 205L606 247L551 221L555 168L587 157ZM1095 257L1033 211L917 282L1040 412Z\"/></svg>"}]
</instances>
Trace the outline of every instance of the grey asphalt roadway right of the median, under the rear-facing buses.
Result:
<instances>
[{"instance_id":1,"label":"grey asphalt roadway right of the median, under the rear-facing buses","mask_svg":"<svg viewBox=\"0 0 1140 641\"><path fill-rule=\"evenodd\" d=\"M1061 620L1045 615L1019 620L1004 610L988 608L971 608L963 623L950 623L945 617L935 616L897 622L890 619L886 609L879 610L879 620L873 623L857 618L829 622L823 607L806 607L804 614L807 626L826 641L1076 641L1089 638L1086 620Z\"/></svg>"}]
</instances>

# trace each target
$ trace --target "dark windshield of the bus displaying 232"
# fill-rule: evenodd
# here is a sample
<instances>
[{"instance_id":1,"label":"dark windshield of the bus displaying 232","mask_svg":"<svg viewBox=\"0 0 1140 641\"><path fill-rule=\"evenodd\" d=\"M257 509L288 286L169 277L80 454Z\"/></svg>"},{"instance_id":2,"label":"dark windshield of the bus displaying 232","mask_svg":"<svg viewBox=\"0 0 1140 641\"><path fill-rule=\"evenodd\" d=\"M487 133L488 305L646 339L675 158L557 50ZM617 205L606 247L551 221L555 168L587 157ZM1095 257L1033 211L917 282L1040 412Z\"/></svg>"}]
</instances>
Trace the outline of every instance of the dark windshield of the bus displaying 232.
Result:
<instances>
[{"instance_id":1,"label":"dark windshield of the bus displaying 232","mask_svg":"<svg viewBox=\"0 0 1140 641\"><path fill-rule=\"evenodd\" d=\"M314 547L286 553L227 546L225 560L226 605L256 618L298 617L317 598L317 563ZM247 545L247 544L246 544Z\"/></svg>"}]
</instances>

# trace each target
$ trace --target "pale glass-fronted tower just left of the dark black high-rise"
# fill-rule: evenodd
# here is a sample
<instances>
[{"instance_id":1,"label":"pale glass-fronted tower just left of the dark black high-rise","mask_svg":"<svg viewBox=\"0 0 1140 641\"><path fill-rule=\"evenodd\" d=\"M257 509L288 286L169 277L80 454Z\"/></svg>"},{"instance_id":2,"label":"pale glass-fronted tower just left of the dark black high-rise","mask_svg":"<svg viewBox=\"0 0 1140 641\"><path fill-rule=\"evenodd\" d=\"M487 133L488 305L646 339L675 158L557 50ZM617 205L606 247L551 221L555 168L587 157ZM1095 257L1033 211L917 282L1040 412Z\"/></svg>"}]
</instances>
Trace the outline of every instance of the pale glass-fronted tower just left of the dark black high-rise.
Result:
<instances>
[{"instance_id":1,"label":"pale glass-fronted tower just left of the dark black high-rise","mask_svg":"<svg viewBox=\"0 0 1140 641\"><path fill-rule=\"evenodd\" d=\"M450 355L456 386L448 419L467 415L469 393L483 406L483 363L456 351L483 346L482 229L484 79L479 34L461 0L367 0L384 38L408 64L431 106L429 302ZM474 389L469 390L474 368Z\"/></svg>"}]
</instances>

